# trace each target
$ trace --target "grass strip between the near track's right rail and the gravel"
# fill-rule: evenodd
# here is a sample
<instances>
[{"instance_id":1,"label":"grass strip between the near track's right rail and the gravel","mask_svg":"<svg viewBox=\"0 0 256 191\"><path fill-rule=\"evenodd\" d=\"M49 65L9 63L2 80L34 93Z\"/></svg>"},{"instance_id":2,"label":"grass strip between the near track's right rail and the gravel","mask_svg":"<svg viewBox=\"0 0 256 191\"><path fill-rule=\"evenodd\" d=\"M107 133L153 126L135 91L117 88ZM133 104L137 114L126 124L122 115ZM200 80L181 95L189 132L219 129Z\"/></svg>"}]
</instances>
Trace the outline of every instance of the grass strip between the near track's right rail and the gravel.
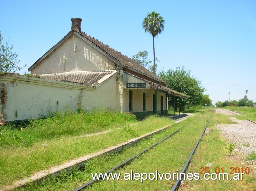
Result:
<instances>
[{"instance_id":1,"label":"grass strip between the near track's right rail and the gravel","mask_svg":"<svg viewBox=\"0 0 256 191\"><path fill-rule=\"evenodd\" d=\"M238 160L231 159L229 156L229 151L227 148L227 140L222 138L220 135L220 130L216 129L216 124L229 124L230 119L224 115L218 114L214 115L211 122L209 123L208 133L204 134L203 140L200 141L197 152L193 155L189 168L187 172L200 173L200 168L206 168L206 164L212 163L212 166L209 167L209 171L215 172L216 168L223 168L224 173L229 174L229 178L232 177L230 174L231 168L239 167L246 168L247 165L244 165ZM250 155L255 157L255 155ZM252 170L252 169L251 169ZM230 180L204 180L203 175L200 175L202 181L184 181L184 184L181 186L180 190L254 190L255 185L255 175L245 174L243 176L243 181L230 181Z\"/></svg>"}]
</instances>

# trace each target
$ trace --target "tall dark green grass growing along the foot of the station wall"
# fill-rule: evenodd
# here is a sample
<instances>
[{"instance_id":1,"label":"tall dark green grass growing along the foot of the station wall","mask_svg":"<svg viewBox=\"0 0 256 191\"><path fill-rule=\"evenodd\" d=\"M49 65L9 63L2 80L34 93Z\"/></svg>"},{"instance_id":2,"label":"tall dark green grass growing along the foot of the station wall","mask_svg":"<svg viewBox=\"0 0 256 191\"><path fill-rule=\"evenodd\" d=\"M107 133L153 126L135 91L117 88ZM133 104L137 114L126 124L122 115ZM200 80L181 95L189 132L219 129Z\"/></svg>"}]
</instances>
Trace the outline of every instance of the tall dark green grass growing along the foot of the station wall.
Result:
<instances>
[{"instance_id":1,"label":"tall dark green grass growing along the foot of the station wall","mask_svg":"<svg viewBox=\"0 0 256 191\"><path fill-rule=\"evenodd\" d=\"M62 136L78 136L135 123L136 116L111 110L79 113L49 113L47 118L30 120L27 125L15 128L10 125L1 130L2 148L29 147L34 143L60 139ZM3 128L3 126L2 126Z\"/></svg>"}]
</instances>

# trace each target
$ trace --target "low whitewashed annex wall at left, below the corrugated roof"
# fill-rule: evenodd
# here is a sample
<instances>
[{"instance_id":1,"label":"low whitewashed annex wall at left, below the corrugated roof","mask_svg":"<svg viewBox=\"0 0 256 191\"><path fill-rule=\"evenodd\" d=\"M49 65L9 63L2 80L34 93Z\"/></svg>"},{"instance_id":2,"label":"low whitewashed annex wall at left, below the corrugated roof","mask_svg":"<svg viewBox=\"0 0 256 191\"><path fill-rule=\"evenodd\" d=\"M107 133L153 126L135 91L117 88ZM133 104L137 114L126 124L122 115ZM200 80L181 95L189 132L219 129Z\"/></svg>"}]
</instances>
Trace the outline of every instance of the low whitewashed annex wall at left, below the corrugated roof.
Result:
<instances>
[{"instance_id":1,"label":"low whitewashed annex wall at left, below the corrugated roof","mask_svg":"<svg viewBox=\"0 0 256 191\"><path fill-rule=\"evenodd\" d=\"M5 99L1 103L4 121L38 118L50 111L116 110L115 77L96 88L17 74L0 78L0 84L1 90L5 87Z\"/></svg>"}]
</instances>

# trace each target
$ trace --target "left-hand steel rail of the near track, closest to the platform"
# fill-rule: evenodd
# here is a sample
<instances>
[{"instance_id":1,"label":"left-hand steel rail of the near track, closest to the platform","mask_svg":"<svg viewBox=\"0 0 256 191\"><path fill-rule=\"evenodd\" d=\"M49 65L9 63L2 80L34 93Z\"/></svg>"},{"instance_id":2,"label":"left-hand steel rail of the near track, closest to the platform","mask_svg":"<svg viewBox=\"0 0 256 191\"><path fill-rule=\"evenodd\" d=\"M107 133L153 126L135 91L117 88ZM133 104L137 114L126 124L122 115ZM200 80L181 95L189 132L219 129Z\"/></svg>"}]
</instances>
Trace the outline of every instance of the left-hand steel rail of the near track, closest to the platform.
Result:
<instances>
[{"instance_id":1,"label":"left-hand steel rail of the near track, closest to the platform","mask_svg":"<svg viewBox=\"0 0 256 191\"><path fill-rule=\"evenodd\" d=\"M189 123L188 123L189 124ZM187 126L188 124L184 125L183 127L181 127L180 129L176 130L175 132L173 132L172 134L166 136L165 138L161 139L160 141L158 141L157 143L149 146L148 148L146 148L145 150L141 151L140 153L134 155L133 157L129 158L128 160L125 160L124 162L118 164L117 166L115 166L114 168L110 169L109 171L105 172L105 173L102 173L102 174L109 174L110 172L114 171L115 169L117 168L120 168L120 167L123 167L125 164L129 163L131 160L133 160L134 158L138 157L138 155L146 152L147 150L151 149L152 147L156 146L157 144L161 143L162 141L164 141L165 139L169 138L170 136L176 134L176 132L180 131L182 128L184 128L185 126ZM99 180L102 180L102 175L98 178L98 179L95 179L95 180L91 180L87 183L85 183L83 186L79 187L79 188L76 188L75 191L79 191L79 190L82 190L84 188L86 188L87 186L91 185L93 182L96 182L96 181L99 181Z\"/></svg>"}]
</instances>

